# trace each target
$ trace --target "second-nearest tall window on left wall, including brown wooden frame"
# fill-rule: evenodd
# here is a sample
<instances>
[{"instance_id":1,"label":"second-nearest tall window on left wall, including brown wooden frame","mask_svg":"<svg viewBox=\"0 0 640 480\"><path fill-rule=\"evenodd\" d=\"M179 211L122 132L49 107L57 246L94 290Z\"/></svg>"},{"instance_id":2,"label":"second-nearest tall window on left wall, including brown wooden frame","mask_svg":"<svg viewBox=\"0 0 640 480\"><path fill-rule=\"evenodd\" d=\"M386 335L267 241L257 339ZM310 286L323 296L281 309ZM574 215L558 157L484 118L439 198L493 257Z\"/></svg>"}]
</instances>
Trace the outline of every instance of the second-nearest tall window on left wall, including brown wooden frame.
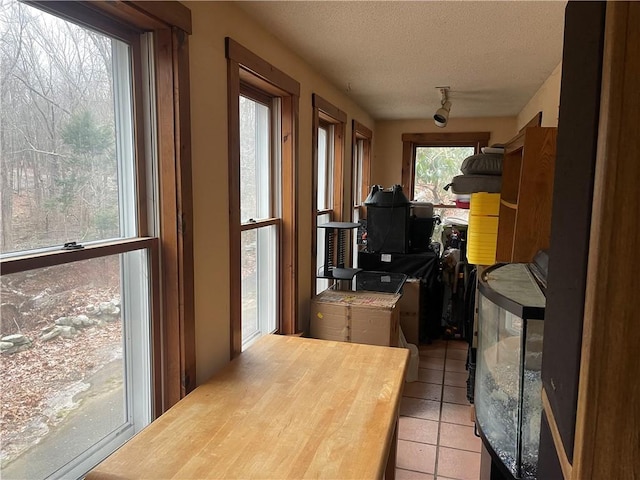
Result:
<instances>
[{"instance_id":1,"label":"second-nearest tall window on left wall, including brown wooden frame","mask_svg":"<svg viewBox=\"0 0 640 480\"><path fill-rule=\"evenodd\" d=\"M227 39L231 355L296 330L299 84Z\"/></svg>"}]
</instances>

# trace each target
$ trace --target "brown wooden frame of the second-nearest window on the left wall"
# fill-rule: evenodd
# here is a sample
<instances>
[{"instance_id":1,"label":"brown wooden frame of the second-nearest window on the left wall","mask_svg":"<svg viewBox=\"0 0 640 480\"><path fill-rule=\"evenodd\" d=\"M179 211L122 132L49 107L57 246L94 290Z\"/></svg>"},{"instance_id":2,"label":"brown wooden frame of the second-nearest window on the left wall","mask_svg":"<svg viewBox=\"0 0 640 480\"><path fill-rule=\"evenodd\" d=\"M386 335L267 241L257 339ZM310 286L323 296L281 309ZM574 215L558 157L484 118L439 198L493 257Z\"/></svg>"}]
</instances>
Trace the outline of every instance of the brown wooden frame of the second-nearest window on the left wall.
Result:
<instances>
[{"instance_id":1,"label":"brown wooden frame of the second-nearest window on the left wall","mask_svg":"<svg viewBox=\"0 0 640 480\"><path fill-rule=\"evenodd\" d=\"M242 279L240 276L240 113L241 83L281 101L281 228L278 333L298 327L298 109L300 84L235 40L225 39L229 146L230 357L242 351Z\"/></svg>"}]
</instances>

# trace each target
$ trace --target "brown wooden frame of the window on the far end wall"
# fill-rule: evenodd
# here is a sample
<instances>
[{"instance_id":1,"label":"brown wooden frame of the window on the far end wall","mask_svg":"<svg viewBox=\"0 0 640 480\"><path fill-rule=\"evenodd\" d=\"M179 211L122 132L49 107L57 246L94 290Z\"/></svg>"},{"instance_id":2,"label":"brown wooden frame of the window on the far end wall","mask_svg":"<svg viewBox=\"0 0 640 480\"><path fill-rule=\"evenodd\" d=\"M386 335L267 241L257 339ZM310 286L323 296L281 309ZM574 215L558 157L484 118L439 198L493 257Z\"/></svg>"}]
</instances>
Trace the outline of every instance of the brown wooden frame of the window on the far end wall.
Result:
<instances>
[{"instance_id":1,"label":"brown wooden frame of the window on the far end wall","mask_svg":"<svg viewBox=\"0 0 640 480\"><path fill-rule=\"evenodd\" d=\"M416 147L474 147L480 153L491 137L490 132L403 133L402 134L402 190L413 200ZM447 205L456 208L455 205Z\"/></svg>"}]
</instances>

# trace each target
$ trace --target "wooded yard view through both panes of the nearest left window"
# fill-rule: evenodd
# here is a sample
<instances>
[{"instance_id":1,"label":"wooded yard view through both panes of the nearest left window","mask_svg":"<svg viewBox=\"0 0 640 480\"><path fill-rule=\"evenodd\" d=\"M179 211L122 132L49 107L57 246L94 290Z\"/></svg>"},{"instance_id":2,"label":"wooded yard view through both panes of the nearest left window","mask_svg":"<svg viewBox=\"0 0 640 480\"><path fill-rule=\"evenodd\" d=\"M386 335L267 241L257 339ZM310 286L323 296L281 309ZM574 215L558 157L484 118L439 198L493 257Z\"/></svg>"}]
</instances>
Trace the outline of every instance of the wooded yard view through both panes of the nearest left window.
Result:
<instances>
[{"instance_id":1,"label":"wooded yard view through both panes of the nearest left window","mask_svg":"<svg viewBox=\"0 0 640 480\"><path fill-rule=\"evenodd\" d=\"M73 476L152 419L152 242L124 242L135 53L17 2L2 15L2 254L40 255L2 275L2 477ZM87 258L50 261L70 242Z\"/></svg>"}]
</instances>

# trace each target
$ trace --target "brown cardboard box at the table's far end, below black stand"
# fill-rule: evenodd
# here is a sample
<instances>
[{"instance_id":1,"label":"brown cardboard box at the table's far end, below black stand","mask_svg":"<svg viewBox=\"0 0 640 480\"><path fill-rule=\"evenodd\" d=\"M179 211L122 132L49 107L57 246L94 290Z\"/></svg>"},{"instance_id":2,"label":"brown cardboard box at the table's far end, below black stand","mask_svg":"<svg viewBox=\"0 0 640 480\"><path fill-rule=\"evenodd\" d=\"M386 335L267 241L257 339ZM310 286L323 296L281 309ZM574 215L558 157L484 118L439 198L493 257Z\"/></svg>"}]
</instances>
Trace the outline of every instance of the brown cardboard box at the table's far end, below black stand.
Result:
<instances>
[{"instance_id":1,"label":"brown cardboard box at the table's far end, below black stand","mask_svg":"<svg viewBox=\"0 0 640 480\"><path fill-rule=\"evenodd\" d=\"M313 338L398 346L399 294L325 290L311 300Z\"/></svg>"}]
</instances>

